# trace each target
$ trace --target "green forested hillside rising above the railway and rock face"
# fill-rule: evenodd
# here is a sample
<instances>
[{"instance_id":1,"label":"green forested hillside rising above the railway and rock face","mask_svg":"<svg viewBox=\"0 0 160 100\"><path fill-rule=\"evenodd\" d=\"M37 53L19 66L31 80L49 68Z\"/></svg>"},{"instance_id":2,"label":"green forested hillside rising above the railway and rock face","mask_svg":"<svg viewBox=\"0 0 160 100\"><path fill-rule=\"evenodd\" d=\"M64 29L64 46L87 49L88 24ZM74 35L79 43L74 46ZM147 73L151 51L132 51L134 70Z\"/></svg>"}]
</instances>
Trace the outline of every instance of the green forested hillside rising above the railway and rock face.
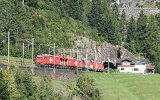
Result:
<instances>
[{"instance_id":1,"label":"green forested hillside rising above the railway and rock face","mask_svg":"<svg viewBox=\"0 0 160 100\"><path fill-rule=\"evenodd\" d=\"M35 38L36 54L47 52L47 44L72 48L79 36L97 42L122 45L134 54L160 61L160 14L126 20L118 5L107 0L0 0L0 33L10 32L11 55L21 56L24 39ZM0 53L7 55L7 38L0 35ZM31 46L25 49L30 57Z\"/></svg>"}]
</instances>

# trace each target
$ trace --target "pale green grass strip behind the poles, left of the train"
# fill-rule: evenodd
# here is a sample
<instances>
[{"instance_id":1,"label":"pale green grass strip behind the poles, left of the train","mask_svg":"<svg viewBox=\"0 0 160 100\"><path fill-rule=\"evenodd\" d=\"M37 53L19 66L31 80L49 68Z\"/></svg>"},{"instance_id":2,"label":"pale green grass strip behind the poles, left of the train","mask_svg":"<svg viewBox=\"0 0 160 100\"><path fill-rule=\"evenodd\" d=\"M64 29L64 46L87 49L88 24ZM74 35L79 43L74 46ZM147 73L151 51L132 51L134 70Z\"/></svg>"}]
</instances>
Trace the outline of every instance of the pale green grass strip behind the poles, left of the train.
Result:
<instances>
[{"instance_id":1,"label":"pale green grass strip behind the poles, left of the train","mask_svg":"<svg viewBox=\"0 0 160 100\"><path fill-rule=\"evenodd\" d=\"M19 57L10 57L10 66L19 66L21 64L22 58ZM8 56L0 56L0 63L8 65ZM31 59L24 59L25 65L31 65Z\"/></svg>"}]
</instances>

